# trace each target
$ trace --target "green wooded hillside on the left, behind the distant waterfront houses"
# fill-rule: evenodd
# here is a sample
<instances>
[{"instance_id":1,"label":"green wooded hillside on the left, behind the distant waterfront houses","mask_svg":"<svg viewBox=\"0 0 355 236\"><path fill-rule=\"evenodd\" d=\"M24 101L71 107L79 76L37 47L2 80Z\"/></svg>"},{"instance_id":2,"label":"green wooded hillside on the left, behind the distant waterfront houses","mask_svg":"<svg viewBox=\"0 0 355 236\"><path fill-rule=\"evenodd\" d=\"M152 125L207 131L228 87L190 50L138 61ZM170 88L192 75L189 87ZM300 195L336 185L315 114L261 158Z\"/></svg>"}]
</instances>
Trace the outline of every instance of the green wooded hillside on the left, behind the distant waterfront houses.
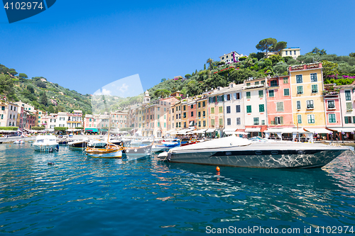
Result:
<instances>
[{"instance_id":1,"label":"green wooded hillside on the left, behind the distant waterfront houses","mask_svg":"<svg viewBox=\"0 0 355 236\"><path fill-rule=\"evenodd\" d=\"M0 94L9 101L23 101L35 108L50 113L82 110L91 113L91 96L65 89L59 84L48 82L43 77L28 79L26 74L16 72L0 64Z\"/></svg>"}]
</instances>

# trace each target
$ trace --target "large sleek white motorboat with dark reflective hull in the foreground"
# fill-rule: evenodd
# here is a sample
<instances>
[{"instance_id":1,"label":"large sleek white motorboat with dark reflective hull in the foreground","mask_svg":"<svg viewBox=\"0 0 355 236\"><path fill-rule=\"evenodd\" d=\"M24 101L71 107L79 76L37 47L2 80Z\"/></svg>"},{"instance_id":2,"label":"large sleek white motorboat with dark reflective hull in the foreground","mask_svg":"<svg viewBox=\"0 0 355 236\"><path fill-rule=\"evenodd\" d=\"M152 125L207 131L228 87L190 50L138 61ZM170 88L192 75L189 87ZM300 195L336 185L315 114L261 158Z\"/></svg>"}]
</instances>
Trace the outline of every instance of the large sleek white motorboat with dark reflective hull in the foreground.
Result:
<instances>
[{"instance_id":1,"label":"large sleek white motorboat with dark reflective hull in the foreground","mask_svg":"<svg viewBox=\"0 0 355 236\"><path fill-rule=\"evenodd\" d=\"M347 147L319 143L251 142L230 136L195 145L175 147L158 155L169 162L231 167L312 168L332 162Z\"/></svg>"}]
</instances>

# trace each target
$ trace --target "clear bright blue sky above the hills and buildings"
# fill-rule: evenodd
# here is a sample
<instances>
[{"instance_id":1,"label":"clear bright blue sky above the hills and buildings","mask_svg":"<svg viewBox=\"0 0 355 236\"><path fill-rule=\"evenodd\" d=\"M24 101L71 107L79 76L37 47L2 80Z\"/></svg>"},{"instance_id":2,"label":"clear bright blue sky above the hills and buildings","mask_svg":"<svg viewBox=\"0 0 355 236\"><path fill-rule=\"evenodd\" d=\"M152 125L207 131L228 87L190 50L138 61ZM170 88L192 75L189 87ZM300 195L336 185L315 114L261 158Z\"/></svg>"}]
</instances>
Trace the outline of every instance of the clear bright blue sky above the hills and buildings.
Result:
<instances>
[{"instance_id":1,"label":"clear bright blue sky above the hills and buildings","mask_svg":"<svg viewBox=\"0 0 355 236\"><path fill-rule=\"evenodd\" d=\"M0 10L0 63L82 94L139 74L143 89L263 38L355 52L354 0L73 1L17 23Z\"/></svg>"}]
</instances>

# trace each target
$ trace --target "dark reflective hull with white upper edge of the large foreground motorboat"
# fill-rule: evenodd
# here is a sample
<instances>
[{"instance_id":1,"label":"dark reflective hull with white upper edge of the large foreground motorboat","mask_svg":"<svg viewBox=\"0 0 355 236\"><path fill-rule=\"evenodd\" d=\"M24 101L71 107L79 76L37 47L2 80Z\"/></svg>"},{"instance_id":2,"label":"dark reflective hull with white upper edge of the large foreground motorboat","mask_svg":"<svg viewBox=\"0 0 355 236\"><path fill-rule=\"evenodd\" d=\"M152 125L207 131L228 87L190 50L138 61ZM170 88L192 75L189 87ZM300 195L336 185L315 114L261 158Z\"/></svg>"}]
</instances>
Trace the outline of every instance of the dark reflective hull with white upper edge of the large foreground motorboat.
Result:
<instances>
[{"instance_id":1,"label":"dark reflective hull with white upper edge of the large foreground motorboat","mask_svg":"<svg viewBox=\"0 0 355 236\"><path fill-rule=\"evenodd\" d=\"M290 146L290 145L289 145ZM315 147L311 145L295 148L280 144L251 145L251 147L224 147L217 150L171 152L170 162L209 164L230 167L254 168L315 168L332 162L346 147Z\"/></svg>"}]
</instances>

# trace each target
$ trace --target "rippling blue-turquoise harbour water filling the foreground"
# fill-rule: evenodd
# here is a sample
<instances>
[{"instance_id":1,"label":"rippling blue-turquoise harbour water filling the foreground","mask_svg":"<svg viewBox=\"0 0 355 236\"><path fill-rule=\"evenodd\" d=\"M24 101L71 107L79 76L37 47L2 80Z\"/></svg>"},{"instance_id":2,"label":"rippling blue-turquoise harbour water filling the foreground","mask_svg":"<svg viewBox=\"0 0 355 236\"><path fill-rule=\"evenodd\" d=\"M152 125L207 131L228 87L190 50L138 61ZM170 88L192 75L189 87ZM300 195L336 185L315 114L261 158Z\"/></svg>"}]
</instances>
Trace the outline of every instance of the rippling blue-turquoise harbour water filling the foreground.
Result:
<instances>
[{"instance_id":1,"label":"rippling blue-turquoise harbour water filling the foreground","mask_svg":"<svg viewBox=\"0 0 355 236\"><path fill-rule=\"evenodd\" d=\"M217 175L215 167L155 157L94 159L67 147L43 154L28 144L4 144L0 232L212 235L212 228L273 227L322 235L315 232L318 226L355 231L355 170L349 162L354 165L354 157L343 155L323 169L222 167Z\"/></svg>"}]
</instances>

